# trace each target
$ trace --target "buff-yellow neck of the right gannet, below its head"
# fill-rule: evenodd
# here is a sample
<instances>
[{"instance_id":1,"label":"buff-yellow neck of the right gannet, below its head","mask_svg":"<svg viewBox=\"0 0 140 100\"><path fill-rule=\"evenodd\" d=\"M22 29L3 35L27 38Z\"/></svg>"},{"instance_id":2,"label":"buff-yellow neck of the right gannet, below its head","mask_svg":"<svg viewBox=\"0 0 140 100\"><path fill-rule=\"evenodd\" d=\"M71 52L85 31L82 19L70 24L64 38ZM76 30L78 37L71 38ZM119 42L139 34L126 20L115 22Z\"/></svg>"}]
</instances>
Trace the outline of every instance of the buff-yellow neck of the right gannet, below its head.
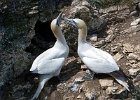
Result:
<instances>
[{"instance_id":1,"label":"buff-yellow neck of the right gannet, below its head","mask_svg":"<svg viewBox=\"0 0 140 100\"><path fill-rule=\"evenodd\" d=\"M85 43L87 37L87 26L78 29L78 44Z\"/></svg>"}]
</instances>

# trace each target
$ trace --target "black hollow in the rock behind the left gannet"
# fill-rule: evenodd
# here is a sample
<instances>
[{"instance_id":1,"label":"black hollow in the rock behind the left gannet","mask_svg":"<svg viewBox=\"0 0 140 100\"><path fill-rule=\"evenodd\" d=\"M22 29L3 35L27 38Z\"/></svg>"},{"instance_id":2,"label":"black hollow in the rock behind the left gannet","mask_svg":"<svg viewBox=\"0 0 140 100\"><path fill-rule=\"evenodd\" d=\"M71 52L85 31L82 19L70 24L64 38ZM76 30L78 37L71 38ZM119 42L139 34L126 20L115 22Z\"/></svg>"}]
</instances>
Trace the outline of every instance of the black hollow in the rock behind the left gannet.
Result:
<instances>
[{"instance_id":1,"label":"black hollow in the rock behind the left gannet","mask_svg":"<svg viewBox=\"0 0 140 100\"><path fill-rule=\"evenodd\" d=\"M34 27L35 35L31 39L30 45L26 47L26 52L30 52L32 55L37 56L54 45L56 38L52 33L50 24L51 20L46 22L37 20Z\"/></svg>"}]
</instances>

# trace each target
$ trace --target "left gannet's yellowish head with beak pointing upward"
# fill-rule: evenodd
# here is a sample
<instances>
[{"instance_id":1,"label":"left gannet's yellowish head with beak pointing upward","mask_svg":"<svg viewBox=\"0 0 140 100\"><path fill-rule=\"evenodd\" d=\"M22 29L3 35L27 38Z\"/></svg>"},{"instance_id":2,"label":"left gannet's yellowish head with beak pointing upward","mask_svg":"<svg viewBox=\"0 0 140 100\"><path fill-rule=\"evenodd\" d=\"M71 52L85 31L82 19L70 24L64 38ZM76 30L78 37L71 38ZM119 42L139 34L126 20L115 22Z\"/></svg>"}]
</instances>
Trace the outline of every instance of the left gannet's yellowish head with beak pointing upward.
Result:
<instances>
[{"instance_id":1,"label":"left gannet's yellowish head with beak pointing upward","mask_svg":"<svg viewBox=\"0 0 140 100\"><path fill-rule=\"evenodd\" d=\"M61 24L62 12L58 15L56 19L51 22L51 30L55 32Z\"/></svg>"}]
</instances>

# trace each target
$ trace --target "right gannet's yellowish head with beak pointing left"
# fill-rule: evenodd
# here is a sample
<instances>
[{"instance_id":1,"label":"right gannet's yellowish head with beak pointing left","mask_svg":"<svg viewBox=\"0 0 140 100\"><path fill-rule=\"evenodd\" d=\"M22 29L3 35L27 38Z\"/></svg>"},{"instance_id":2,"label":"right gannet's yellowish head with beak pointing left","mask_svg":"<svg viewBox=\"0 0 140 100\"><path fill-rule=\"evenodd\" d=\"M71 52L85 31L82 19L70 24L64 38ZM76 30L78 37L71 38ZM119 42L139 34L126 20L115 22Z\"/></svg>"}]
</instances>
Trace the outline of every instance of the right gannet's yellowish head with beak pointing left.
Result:
<instances>
[{"instance_id":1,"label":"right gannet's yellowish head with beak pointing left","mask_svg":"<svg viewBox=\"0 0 140 100\"><path fill-rule=\"evenodd\" d=\"M66 23L68 23L78 29L82 29L82 28L86 27L85 22L79 18L75 18L75 19L64 18L64 20L66 21Z\"/></svg>"}]
</instances>

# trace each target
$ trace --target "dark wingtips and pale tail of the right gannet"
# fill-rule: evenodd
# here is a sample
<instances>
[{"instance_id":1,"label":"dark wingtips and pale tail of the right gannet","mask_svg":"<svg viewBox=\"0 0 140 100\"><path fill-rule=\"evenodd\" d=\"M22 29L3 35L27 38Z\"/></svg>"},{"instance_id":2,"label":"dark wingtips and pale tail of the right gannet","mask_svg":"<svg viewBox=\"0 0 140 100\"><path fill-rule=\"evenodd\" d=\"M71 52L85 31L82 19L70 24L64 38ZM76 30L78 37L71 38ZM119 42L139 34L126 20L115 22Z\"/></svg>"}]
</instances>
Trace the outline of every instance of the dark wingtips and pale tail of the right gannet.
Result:
<instances>
[{"instance_id":1,"label":"dark wingtips and pale tail of the right gannet","mask_svg":"<svg viewBox=\"0 0 140 100\"><path fill-rule=\"evenodd\" d=\"M124 86L129 92L133 92L134 85L133 82L128 79L122 70L111 72L110 75L115 78L115 80Z\"/></svg>"}]
</instances>

